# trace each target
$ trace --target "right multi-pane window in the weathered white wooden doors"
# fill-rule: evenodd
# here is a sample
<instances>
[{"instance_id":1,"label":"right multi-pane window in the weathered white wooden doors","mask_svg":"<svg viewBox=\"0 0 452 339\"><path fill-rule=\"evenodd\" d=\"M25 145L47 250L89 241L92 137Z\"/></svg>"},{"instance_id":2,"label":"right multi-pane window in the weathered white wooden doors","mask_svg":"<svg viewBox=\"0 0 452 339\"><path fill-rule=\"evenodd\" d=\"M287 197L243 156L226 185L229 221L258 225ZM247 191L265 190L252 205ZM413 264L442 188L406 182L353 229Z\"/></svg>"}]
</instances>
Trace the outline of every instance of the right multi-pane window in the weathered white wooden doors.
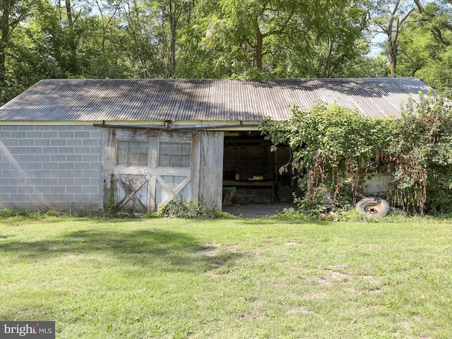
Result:
<instances>
[{"instance_id":1,"label":"right multi-pane window in the weathered white wooden doors","mask_svg":"<svg viewBox=\"0 0 452 339\"><path fill-rule=\"evenodd\" d=\"M160 143L158 165L162 167L190 167L191 143Z\"/></svg>"}]
</instances>

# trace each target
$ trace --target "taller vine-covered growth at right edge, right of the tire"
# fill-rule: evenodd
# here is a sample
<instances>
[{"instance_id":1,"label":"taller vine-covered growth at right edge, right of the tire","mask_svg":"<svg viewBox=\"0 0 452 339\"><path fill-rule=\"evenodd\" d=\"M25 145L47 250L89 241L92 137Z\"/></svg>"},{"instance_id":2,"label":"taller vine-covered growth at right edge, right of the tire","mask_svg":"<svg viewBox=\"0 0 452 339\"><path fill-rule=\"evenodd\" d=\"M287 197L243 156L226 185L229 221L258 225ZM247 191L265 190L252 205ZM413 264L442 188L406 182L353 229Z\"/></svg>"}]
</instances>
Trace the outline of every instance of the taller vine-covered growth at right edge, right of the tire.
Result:
<instances>
[{"instance_id":1,"label":"taller vine-covered growth at right edge, right of the tire","mask_svg":"<svg viewBox=\"0 0 452 339\"><path fill-rule=\"evenodd\" d=\"M452 212L452 102L439 94L410 100L390 155L393 203L422 215Z\"/></svg>"}]
</instances>

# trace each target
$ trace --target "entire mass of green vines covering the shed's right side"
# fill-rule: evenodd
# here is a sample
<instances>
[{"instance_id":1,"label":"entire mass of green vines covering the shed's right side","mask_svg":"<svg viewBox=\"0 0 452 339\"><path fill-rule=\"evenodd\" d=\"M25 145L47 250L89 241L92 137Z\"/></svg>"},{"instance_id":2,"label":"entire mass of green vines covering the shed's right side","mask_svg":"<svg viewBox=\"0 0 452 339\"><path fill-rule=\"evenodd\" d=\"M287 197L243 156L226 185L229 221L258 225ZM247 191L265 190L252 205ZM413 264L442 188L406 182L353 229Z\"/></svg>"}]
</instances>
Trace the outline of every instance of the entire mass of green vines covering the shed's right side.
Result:
<instances>
[{"instance_id":1,"label":"entire mass of green vines covering the shed's right side","mask_svg":"<svg viewBox=\"0 0 452 339\"><path fill-rule=\"evenodd\" d=\"M316 102L292 107L287 121L266 118L263 135L272 149L289 145L290 167L306 192L298 199L307 214L318 214L331 194L335 209L356 201L366 179L391 174L386 198L393 207L423 215L452 213L452 104L421 95L405 105L400 119L364 117L355 110Z\"/></svg>"}]
</instances>

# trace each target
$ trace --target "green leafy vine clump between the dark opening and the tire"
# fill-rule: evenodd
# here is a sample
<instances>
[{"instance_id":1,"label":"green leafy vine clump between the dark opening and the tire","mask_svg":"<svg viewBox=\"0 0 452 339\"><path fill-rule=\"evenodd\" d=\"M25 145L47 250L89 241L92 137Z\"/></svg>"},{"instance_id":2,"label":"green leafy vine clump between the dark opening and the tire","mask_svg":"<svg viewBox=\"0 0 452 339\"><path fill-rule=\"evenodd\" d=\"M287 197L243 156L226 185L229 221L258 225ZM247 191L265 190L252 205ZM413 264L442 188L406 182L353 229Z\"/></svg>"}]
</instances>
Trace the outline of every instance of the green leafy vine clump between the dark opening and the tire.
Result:
<instances>
[{"instance_id":1,"label":"green leafy vine clump between the dark opening and the tire","mask_svg":"<svg viewBox=\"0 0 452 339\"><path fill-rule=\"evenodd\" d=\"M292 168L305 192L303 210L316 210L330 192L336 203L350 184L352 201L363 191L364 179L377 171L393 141L394 121L363 117L355 110L316 102L311 109L293 107L287 121L266 118L260 129L266 139L292 149Z\"/></svg>"}]
</instances>

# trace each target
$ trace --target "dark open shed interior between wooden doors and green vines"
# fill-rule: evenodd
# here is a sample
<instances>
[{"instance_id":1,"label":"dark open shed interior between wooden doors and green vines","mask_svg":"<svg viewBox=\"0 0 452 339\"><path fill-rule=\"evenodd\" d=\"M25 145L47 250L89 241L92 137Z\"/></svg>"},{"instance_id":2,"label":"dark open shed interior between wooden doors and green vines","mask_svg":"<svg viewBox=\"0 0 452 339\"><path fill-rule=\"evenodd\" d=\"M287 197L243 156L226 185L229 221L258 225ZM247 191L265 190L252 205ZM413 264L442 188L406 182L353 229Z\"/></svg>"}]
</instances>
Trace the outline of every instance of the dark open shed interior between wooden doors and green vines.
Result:
<instances>
[{"instance_id":1,"label":"dark open shed interior between wooden doors and green vines","mask_svg":"<svg viewBox=\"0 0 452 339\"><path fill-rule=\"evenodd\" d=\"M270 146L259 131L225 132L224 203L292 201L291 170L279 172L290 162L290 150L280 147L272 152Z\"/></svg>"}]
</instances>

